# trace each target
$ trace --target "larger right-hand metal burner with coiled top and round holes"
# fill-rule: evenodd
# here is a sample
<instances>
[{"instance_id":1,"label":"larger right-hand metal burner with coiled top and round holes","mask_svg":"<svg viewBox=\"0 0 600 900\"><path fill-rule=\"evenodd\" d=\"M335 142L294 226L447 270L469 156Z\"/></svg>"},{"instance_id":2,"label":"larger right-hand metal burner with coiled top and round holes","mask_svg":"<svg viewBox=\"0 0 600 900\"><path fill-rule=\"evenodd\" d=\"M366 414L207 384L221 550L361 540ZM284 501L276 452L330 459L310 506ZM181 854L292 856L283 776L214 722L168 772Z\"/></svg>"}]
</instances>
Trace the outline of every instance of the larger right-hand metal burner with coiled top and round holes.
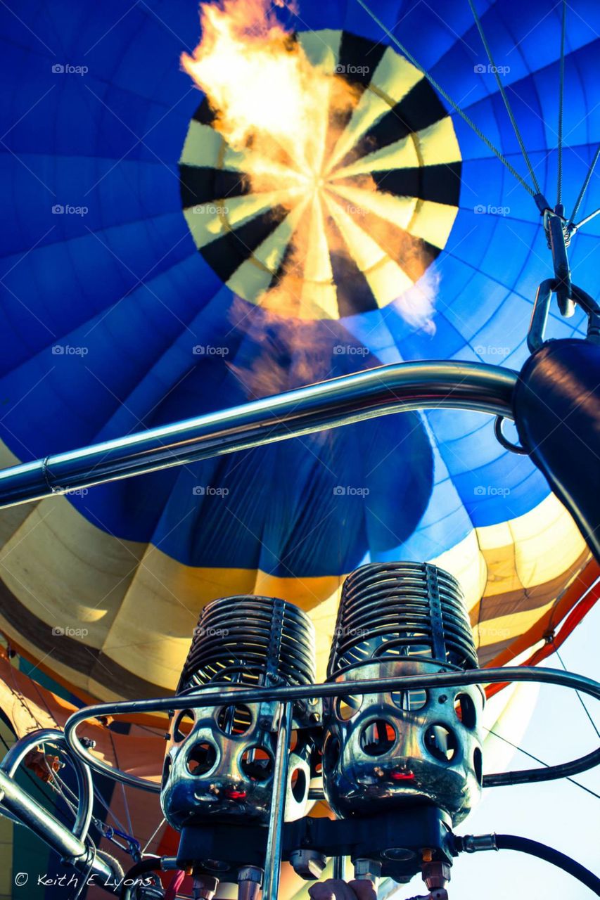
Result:
<instances>
[{"instance_id":1,"label":"larger right-hand metal burner with coiled top and round holes","mask_svg":"<svg viewBox=\"0 0 600 900\"><path fill-rule=\"evenodd\" d=\"M460 822L482 784L478 687L352 694L352 682L477 668L459 583L421 563L373 563L344 583L323 700L323 788L342 818L431 804Z\"/></svg>"}]
</instances>

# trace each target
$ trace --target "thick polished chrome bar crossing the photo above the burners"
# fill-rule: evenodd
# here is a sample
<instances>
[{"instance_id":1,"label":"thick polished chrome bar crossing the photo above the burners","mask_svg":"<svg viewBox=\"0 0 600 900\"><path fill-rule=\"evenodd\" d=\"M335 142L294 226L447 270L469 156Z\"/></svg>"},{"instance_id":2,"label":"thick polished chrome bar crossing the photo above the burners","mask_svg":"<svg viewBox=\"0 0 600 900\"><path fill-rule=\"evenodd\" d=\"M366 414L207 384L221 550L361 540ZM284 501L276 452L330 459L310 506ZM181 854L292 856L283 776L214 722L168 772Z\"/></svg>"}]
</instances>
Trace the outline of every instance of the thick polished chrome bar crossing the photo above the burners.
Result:
<instances>
[{"instance_id":1,"label":"thick polished chrome bar crossing the photo above the burners","mask_svg":"<svg viewBox=\"0 0 600 900\"><path fill-rule=\"evenodd\" d=\"M383 365L12 466L0 472L0 509L392 412L443 407L512 419L516 379L481 363Z\"/></svg>"}]
</instances>

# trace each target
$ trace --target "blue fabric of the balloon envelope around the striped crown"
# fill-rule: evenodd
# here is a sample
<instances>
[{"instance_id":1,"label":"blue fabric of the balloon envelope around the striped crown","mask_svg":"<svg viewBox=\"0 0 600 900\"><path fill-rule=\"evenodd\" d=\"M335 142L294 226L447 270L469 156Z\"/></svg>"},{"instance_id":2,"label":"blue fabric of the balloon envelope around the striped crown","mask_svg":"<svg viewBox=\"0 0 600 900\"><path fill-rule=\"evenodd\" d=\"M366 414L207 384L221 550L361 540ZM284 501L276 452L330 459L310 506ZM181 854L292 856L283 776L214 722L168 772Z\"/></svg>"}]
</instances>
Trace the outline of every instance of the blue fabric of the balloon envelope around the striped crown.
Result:
<instances>
[{"instance_id":1,"label":"blue fabric of the balloon envelope around the striped crown","mask_svg":"<svg viewBox=\"0 0 600 900\"><path fill-rule=\"evenodd\" d=\"M527 178L467 4L374 6ZM535 173L554 201L559 7L547 0L477 7ZM377 76L390 41L355 0L301 0L295 13L278 15L299 40L340 32L339 58L366 56ZM550 275L540 217L531 196L423 79L402 109L425 128L428 115L450 114L459 151L451 166L433 164L419 175L414 191L426 202L455 204L447 237L391 302L374 302L346 260L336 270L350 285L339 315L299 321L228 286L232 246L198 250L184 216L178 164L202 95L179 58L200 38L195 4L152 0L125 9L111 0L23 0L18 10L4 4L0 21L0 428L19 459L380 363L523 365L533 296ZM598 31L598 4L577 0L566 56L569 203L600 139ZM196 195L206 172L195 173ZM404 196L407 171L392 175L388 184L395 178L395 195ZM593 179L582 216L598 204L596 185ZM254 240L254 227L243 240ZM591 293L598 227L591 222L572 247L574 278ZM406 316L419 293L433 303L425 329ZM567 321L553 312L549 333L582 327L581 314ZM195 493L197 485L226 489L228 502ZM341 498L338 486L363 493ZM186 565L313 575L346 572L368 556L443 553L473 527L523 516L548 493L529 461L497 445L490 421L431 412L119 482L70 502L95 526L155 542Z\"/></svg>"}]
</instances>

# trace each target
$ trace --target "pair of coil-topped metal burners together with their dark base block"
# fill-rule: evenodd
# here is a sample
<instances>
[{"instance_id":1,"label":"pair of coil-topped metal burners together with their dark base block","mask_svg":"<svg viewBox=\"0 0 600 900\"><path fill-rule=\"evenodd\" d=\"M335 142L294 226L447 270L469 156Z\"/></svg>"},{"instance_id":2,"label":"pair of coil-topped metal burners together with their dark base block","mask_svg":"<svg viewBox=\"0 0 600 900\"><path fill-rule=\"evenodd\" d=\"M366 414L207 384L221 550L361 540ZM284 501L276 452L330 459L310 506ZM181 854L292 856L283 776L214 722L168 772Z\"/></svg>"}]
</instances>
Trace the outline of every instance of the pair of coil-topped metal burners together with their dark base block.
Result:
<instances>
[{"instance_id":1,"label":"pair of coil-topped metal burners together with their dark base block","mask_svg":"<svg viewBox=\"0 0 600 900\"><path fill-rule=\"evenodd\" d=\"M257 896L275 795L277 851L302 877L350 856L358 878L421 871L430 896L446 896L451 828L481 791L484 695L418 681L477 668L458 582L433 565L363 566L341 592L327 671L339 692L310 698L314 658L314 626L285 600L230 597L203 610L177 689L190 708L171 718L161 788L181 832L177 865L193 871L196 896L220 881ZM405 676L414 687L398 689ZM269 697L275 688L291 689L289 700ZM238 699L248 689L265 700ZM215 704L223 692L231 701ZM319 796L335 820L309 815Z\"/></svg>"}]
</instances>

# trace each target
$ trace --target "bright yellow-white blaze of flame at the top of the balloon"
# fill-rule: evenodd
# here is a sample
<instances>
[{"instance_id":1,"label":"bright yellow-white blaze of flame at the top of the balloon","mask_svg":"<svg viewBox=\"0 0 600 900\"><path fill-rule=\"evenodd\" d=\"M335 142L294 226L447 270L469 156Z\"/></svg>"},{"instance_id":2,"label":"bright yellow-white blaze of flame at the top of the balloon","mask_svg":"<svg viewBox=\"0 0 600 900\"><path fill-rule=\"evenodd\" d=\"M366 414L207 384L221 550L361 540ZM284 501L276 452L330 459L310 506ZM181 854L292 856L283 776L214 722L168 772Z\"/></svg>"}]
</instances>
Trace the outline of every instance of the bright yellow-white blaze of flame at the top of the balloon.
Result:
<instances>
[{"instance_id":1,"label":"bright yellow-white blaze of flame at the top of the balloon","mask_svg":"<svg viewBox=\"0 0 600 900\"><path fill-rule=\"evenodd\" d=\"M281 191L285 171L291 203L317 190L332 120L350 111L356 91L309 61L268 0L203 5L201 23L202 41L182 65L208 97L214 127L233 149L250 151L251 189Z\"/></svg>"}]
</instances>

